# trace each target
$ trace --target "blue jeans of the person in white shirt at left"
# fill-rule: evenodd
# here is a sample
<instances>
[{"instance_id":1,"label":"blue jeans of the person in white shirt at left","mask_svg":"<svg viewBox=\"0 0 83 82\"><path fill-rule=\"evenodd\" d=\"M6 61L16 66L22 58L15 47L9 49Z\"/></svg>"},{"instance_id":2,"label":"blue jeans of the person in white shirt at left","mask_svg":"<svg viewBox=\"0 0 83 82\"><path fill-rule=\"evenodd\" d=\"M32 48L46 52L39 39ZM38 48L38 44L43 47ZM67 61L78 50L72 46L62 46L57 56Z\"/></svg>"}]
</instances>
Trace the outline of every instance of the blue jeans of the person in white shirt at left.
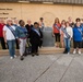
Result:
<instances>
[{"instance_id":1,"label":"blue jeans of the person in white shirt at left","mask_svg":"<svg viewBox=\"0 0 83 82\"><path fill-rule=\"evenodd\" d=\"M9 52L10 52L11 57L14 57L14 55L15 55L15 47L14 47L14 45L15 45L15 40L14 39L13 40L8 40Z\"/></svg>"}]
</instances>

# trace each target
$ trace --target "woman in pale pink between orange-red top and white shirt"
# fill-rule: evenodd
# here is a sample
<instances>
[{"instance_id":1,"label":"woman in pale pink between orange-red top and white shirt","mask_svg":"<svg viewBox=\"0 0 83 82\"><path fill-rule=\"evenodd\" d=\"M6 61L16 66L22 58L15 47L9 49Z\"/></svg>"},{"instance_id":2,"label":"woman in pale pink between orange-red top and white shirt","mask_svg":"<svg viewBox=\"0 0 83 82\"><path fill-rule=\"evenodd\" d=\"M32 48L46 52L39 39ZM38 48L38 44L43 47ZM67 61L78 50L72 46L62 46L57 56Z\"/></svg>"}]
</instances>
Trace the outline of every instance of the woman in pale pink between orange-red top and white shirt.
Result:
<instances>
[{"instance_id":1,"label":"woman in pale pink between orange-red top and white shirt","mask_svg":"<svg viewBox=\"0 0 83 82\"><path fill-rule=\"evenodd\" d=\"M61 27L66 28L66 21L62 20L61 22ZM60 43L61 43L61 48L64 48L64 33L60 30Z\"/></svg>"}]
</instances>

